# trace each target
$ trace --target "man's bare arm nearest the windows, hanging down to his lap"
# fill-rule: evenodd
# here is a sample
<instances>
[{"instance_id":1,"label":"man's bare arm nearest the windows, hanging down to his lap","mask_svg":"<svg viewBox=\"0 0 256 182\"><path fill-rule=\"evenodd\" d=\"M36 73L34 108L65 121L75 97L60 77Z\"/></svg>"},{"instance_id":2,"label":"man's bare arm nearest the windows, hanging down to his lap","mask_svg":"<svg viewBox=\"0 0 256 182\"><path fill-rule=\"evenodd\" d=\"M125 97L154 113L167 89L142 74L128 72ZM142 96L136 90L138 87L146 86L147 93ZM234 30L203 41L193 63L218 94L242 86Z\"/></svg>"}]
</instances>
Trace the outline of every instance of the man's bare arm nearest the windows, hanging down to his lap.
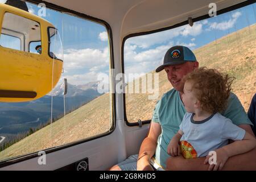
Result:
<instances>
[{"instance_id":1,"label":"man's bare arm nearest the windows, hanging down to his lap","mask_svg":"<svg viewBox=\"0 0 256 182\"><path fill-rule=\"evenodd\" d=\"M159 123L151 121L150 130L147 137L143 140L139 150L137 170L152 170L150 166L150 159L155 154L158 137L162 129Z\"/></svg>"}]
</instances>

